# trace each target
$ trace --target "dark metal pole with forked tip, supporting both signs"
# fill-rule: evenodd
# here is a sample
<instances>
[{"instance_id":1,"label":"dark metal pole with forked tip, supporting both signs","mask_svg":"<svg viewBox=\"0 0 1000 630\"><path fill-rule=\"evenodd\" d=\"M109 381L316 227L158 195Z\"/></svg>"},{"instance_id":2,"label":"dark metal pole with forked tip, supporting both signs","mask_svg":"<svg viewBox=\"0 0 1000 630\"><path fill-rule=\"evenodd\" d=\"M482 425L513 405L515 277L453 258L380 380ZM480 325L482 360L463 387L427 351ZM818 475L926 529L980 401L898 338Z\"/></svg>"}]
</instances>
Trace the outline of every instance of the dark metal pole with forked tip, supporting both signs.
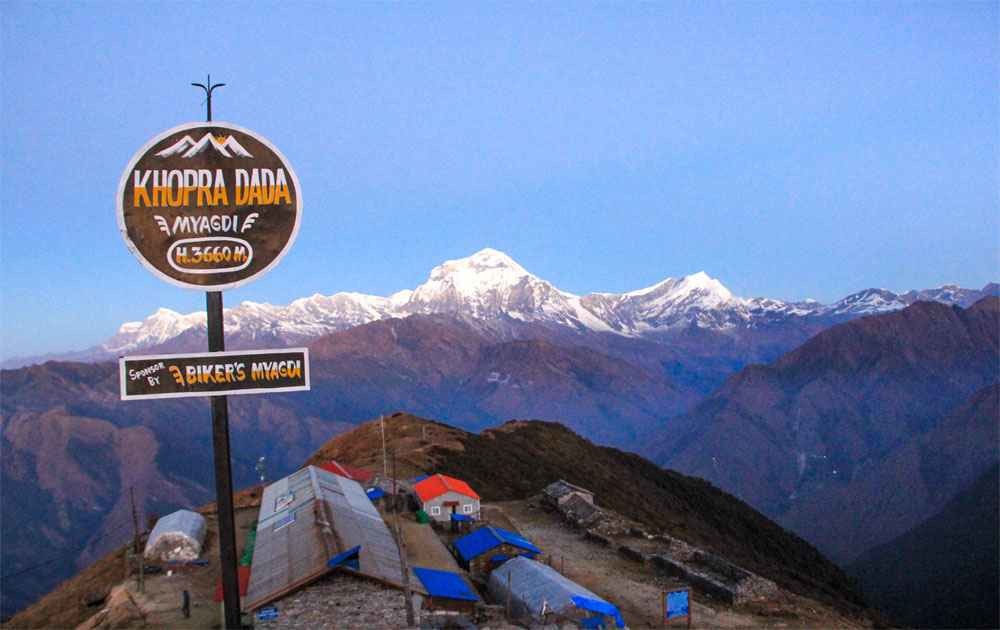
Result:
<instances>
[{"instance_id":1,"label":"dark metal pole with forked tip, supporting both signs","mask_svg":"<svg viewBox=\"0 0 1000 630\"><path fill-rule=\"evenodd\" d=\"M225 83L212 85L208 76L205 85L192 83L205 90L206 121L212 122L212 90ZM222 292L205 293L208 315L208 351L226 349L222 324ZM219 515L219 560L222 564L222 601L226 611L226 630L239 630L240 581L236 566L236 519L233 513L233 471L229 455L229 401L226 396L212 396L212 447L215 459L215 505Z\"/></svg>"}]
</instances>

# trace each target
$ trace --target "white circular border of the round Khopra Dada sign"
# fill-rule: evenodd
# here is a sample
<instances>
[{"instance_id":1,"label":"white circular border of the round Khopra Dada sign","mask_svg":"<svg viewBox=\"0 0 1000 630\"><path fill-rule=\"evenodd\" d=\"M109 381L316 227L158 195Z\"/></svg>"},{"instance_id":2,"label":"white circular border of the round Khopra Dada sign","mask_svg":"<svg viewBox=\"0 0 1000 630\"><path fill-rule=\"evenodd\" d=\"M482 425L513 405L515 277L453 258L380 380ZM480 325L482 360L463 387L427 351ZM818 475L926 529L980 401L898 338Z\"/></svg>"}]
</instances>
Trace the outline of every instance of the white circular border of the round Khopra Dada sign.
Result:
<instances>
[{"instance_id":1,"label":"white circular border of the round Khopra Dada sign","mask_svg":"<svg viewBox=\"0 0 1000 630\"><path fill-rule=\"evenodd\" d=\"M275 155L277 155L278 158L281 159L281 162L284 164L285 168L288 169L289 175L292 176L292 183L295 184L295 226L292 228L292 233L288 237L288 242L285 243L285 246L281 249L280 252L278 252L278 255L274 257L274 260L272 260L267 267L264 267L263 269L253 274L252 276L243 278L242 280L237 280L236 282L230 282L228 284L191 284L189 282L184 282L183 280L171 278L167 274L157 269L148 260L146 260L146 257L142 255L142 252L139 251L139 248L136 247L135 243L132 242L132 239L128 237L128 228L125 225L125 204L124 204L125 186L128 184L129 176L132 174L135 165L139 162L142 156L144 156L146 152L148 152L158 143L162 142L164 138L166 138L171 134L175 134L180 131L199 129L204 127L221 127L223 129L231 129L233 131L238 131L240 133L245 133L248 136L251 136L258 142L266 146L267 148L271 149L271 151L274 151ZM142 263L142 266L148 269L149 271L153 272L153 275L155 275L157 278L163 280L164 282L168 282L174 286L181 287L182 289L194 289L196 291L226 291L229 289L235 289L237 287L241 287L244 284L248 284L254 280L259 279L260 277L262 277L263 275L274 269L274 267L277 266L279 262L281 262L281 259L285 257L285 254L288 253L288 250L291 249L292 244L295 243L295 239L299 235L299 224L302 222L302 187L299 185L299 178L295 174L295 169L292 168L292 164L291 162L288 161L288 158L286 158L285 155L278 150L278 147L271 144L270 140L260 135L259 133L228 122L221 122L221 121L217 122L214 120L212 122L189 122L177 125L176 127L167 129L166 131L157 134L152 140L144 144L142 148L135 153L135 155L132 156L132 159L129 160L128 162L128 166L125 167L125 171L122 173L121 180L118 182L118 197L115 199L115 209L117 215L116 218L118 219L118 230L121 232L122 238L125 239L125 246L128 247L128 250L132 252L132 254L136 258L139 259L139 262Z\"/></svg>"}]
</instances>

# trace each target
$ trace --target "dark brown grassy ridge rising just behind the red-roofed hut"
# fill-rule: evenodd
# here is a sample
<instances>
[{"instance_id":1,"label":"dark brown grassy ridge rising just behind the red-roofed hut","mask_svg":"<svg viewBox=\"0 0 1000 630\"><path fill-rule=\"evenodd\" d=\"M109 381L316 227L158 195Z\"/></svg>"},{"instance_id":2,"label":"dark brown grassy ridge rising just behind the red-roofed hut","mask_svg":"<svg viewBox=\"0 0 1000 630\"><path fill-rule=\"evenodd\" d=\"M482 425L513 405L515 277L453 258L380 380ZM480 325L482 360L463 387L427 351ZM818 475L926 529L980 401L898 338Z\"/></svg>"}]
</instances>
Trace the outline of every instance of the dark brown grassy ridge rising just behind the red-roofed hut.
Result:
<instances>
[{"instance_id":1,"label":"dark brown grassy ridge rising just behind the red-roofed hut","mask_svg":"<svg viewBox=\"0 0 1000 630\"><path fill-rule=\"evenodd\" d=\"M806 597L857 612L846 575L815 548L701 479L664 470L630 453L596 446L566 427L508 422L476 435L397 413L385 418L400 476L443 472L488 501L522 499L556 479L589 488L597 502L653 530L709 548ZM310 459L381 469L377 420L340 435Z\"/></svg>"}]
</instances>

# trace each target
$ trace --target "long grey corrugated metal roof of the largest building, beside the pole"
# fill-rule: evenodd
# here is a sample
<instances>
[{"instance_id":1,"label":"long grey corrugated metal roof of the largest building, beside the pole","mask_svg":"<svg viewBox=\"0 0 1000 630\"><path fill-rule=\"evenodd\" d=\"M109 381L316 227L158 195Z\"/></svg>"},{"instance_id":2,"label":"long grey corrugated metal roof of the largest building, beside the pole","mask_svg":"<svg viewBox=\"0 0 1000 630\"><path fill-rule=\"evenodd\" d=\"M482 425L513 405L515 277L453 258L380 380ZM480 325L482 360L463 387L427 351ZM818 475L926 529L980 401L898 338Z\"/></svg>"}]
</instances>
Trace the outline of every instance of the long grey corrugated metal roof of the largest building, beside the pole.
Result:
<instances>
[{"instance_id":1,"label":"long grey corrugated metal roof of the largest building, beside the pole","mask_svg":"<svg viewBox=\"0 0 1000 630\"><path fill-rule=\"evenodd\" d=\"M315 466L279 479L261 499L243 607L253 610L309 584L352 547L360 547L359 573L402 586L399 547L360 484Z\"/></svg>"}]
</instances>

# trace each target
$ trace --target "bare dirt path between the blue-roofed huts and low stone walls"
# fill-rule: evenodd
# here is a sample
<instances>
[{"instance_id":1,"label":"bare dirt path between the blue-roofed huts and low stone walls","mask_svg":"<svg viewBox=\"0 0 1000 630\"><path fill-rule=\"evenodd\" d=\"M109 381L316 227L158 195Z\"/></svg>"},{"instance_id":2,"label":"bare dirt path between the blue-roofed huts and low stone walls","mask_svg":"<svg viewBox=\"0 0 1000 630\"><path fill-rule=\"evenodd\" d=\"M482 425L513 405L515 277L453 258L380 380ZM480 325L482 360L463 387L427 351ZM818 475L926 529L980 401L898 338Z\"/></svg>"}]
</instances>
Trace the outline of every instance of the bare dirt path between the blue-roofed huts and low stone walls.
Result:
<instances>
[{"instance_id":1,"label":"bare dirt path between the blue-roofed huts and low stone walls","mask_svg":"<svg viewBox=\"0 0 1000 630\"><path fill-rule=\"evenodd\" d=\"M663 627L660 598L668 580L610 547L585 540L557 514L529 507L529 502L499 503L494 508L543 550L543 561L551 559L552 566L566 577L614 602L629 627ZM787 595L777 602L734 608L692 592L692 611L694 628L857 627L814 602Z\"/></svg>"}]
</instances>

